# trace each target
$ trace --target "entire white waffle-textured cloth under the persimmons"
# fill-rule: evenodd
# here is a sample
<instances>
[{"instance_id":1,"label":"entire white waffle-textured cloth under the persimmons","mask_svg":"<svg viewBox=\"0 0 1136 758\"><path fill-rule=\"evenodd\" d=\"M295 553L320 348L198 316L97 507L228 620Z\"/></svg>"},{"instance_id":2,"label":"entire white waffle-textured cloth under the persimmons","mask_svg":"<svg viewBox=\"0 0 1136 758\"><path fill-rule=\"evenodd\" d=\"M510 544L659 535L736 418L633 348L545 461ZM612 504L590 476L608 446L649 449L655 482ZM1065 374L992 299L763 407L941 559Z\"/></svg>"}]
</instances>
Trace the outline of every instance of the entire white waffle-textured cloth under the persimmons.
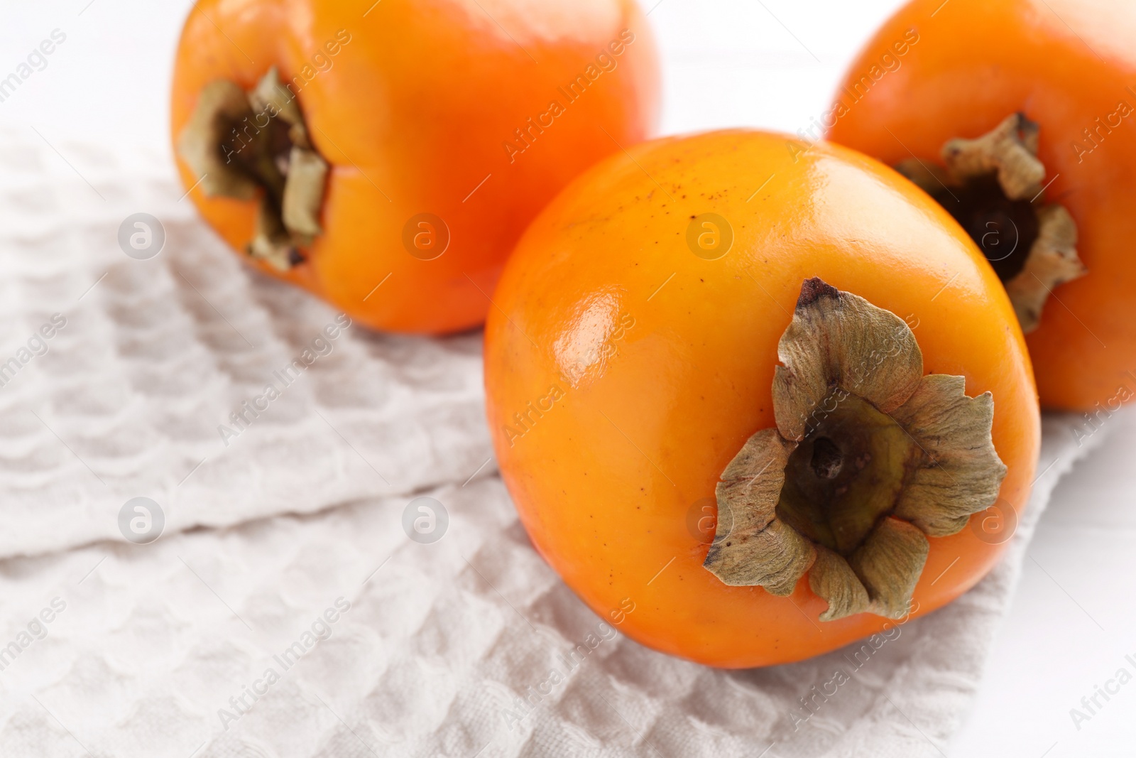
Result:
<instances>
[{"instance_id":1,"label":"entire white waffle-textured cloth under the persimmons","mask_svg":"<svg viewBox=\"0 0 1136 758\"><path fill-rule=\"evenodd\" d=\"M1088 449L1046 418L1005 559L794 726L846 651L741 672L669 658L607 634L534 552L493 476L479 334L349 328L226 445L218 426L335 314L243 269L164 166L57 145L102 166L80 177L2 138L5 756L937 756ZM151 260L117 242L137 211L167 233ZM421 494L449 513L432 544L402 526ZM165 514L157 542L123 539L134 497Z\"/></svg>"}]
</instances>

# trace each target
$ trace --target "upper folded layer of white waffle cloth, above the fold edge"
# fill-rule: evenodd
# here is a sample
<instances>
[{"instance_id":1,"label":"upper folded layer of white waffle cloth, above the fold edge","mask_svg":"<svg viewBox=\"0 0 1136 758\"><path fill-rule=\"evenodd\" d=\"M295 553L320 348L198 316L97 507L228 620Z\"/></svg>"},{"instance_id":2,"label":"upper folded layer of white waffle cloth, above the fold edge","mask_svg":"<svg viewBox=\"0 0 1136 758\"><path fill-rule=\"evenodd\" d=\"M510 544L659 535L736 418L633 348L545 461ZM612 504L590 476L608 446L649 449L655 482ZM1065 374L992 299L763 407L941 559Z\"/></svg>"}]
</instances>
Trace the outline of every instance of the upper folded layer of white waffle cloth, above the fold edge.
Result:
<instances>
[{"instance_id":1,"label":"upper folded layer of white waffle cloth, above the fold edge","mask_svg":"<svg viewBox=\"0 0 1136 758\"><path fill-rule=\"evenodd\" d=\"M479 334L327 339L336 314L250 275L165 161L59 145L103 164L81 180L28 138L0 134L0 502L19 525L0 556L118 538L133 497L168 527L225 525L460 483L490 458ZM166 232L149 260L118 243L139 211ZM47 352L5 373L55 314ZM296 359L311 365L287 372ZM269 384L279 398L258 401Z\"/></svg>"}]
</instances>

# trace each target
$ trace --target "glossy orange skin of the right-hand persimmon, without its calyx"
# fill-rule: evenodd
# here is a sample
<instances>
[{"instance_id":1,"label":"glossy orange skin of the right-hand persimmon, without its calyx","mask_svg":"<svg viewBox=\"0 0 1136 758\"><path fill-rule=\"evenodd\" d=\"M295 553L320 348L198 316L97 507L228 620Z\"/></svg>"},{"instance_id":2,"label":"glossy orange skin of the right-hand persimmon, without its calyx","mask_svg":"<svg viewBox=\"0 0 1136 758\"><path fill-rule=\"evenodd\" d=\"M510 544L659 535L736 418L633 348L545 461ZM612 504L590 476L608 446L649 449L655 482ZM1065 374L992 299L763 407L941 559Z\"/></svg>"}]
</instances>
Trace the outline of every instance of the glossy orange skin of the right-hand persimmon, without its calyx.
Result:
<instances>
[{"instance_id":1,"label":"glossy orange skin of the right-hand persimmon, without its calyx","mask_svg":"<svg viewBox=\"0 0 1136 758\"><path fill-rule=\"evenodd\" d=\"M1113 116L1120 101L1136 109L1136 6L951 0L935 13L941 6L917 0L888 20L837 91L847 113L820 120L828 139L888 165L936 160L946 140L983 134L1018 110L1041 124L1038 157L1053 178L1046 197L1077 222L1088 275L1056 288L1026 338L1038 392L1050 408L1116 409L1136 392L1136 125L1125 123L1136 113ZM892 45L908 30L919 41L896 56ZM887 61L894 70L861 84L854 94L867 94L853 102L853 83L871 81L885 52L899 68ZM1111 133L1102 128L1094 148L1084 130L1097 118Z\"/></svg>"}]
</instances>

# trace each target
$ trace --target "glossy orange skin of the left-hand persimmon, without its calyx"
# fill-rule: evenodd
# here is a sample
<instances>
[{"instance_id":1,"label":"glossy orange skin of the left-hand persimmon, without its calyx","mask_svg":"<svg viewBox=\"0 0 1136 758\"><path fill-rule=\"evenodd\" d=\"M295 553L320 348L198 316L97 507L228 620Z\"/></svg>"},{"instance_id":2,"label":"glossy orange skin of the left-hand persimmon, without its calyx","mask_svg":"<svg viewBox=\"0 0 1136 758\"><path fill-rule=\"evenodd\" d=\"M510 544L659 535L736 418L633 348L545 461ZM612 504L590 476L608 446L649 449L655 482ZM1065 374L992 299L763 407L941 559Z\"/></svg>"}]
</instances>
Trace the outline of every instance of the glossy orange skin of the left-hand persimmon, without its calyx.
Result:
<instances>
[{"instance_id":1,"label":"glossy orange skin of the left-hand persimmon, without its calyx","mask_svg":"<svg viewBox=\"0 0 1136 758\"><path fill-rule=\"evenodd\" d=\"M301 76L293 91L316 149L332 164L325 234L310 263L286 274L250 263L375 328L469 328L484 320L501 267L540 209L580 170L618 151L617 143L648 136L658 111L654 42L634 0L368 5L197 3L175 64L173 139L212 80L251 89L274 65L284 82ZM340 30L350 39L332 56L325 45L335 47ZM623 42L623 30L634 41L616 56L609 45ZM595 66L601 52L615 68ZM587 76L588 65L600 75L569 102L558 88ZM549 124L541 116L553 100L565 113L550 117L543 133L531 128L529 117ZM518 128L531 135L519 155L503 147L524 147ZM181 160L178 168L186 189L198 181ZM256 202L207 198L200 188L191 197L243 251ZM450 230L449 249L434 260L411 256L402 242L403 226L423 213Z\"/></svg>"}]
</instances>

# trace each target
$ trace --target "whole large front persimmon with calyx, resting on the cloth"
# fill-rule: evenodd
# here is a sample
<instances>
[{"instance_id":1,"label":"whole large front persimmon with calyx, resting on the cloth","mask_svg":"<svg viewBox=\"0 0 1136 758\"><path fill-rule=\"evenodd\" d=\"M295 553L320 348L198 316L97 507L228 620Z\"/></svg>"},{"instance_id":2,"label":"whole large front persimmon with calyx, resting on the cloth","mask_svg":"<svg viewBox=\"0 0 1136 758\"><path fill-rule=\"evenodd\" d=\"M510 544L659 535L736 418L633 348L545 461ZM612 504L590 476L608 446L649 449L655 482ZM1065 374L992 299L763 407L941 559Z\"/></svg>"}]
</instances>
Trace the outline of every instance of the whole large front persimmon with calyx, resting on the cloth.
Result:
<instances>
[{"instance_id":1,"label":"whole large front persimmon with calyx, resting on the cloth","mask_svg":"<svg viewBox=\"0 0 1136 758\"><path fill-rule=\"evenodd\" d=\"M730 131L604 160L521 238L486 323L533 543L620 631L713 666L958 597L1038 449L1021 331L974 243L891 169L807 147Z\"/></svg>"}]
</instances>

